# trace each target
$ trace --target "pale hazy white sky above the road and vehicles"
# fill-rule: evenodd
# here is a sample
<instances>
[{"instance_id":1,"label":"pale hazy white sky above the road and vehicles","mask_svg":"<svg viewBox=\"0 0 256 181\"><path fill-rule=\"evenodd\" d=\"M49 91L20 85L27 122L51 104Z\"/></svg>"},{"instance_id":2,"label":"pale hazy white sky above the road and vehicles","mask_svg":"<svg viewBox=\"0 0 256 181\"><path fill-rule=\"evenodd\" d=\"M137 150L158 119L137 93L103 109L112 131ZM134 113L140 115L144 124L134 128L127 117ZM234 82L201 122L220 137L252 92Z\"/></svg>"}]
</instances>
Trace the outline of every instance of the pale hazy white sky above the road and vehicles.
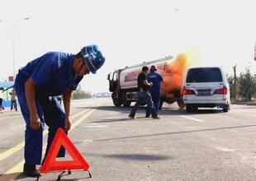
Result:
<instances>
[{"instance_id":1,"label":"pale hazy white sky above the road and vehicles","mask_svg":"<svg viewBox=\"0 0 256 181\"><path fill-rule=\"evenodd\" d=\"M106 57L81 82L92 93L108 90L108 72L191 49L201 65L256 73L255 17L246 0L0 0L0 81L13 74L13 52L17 71L46 52L78 53L88 44Z\"/></svg>"}]
</instances>

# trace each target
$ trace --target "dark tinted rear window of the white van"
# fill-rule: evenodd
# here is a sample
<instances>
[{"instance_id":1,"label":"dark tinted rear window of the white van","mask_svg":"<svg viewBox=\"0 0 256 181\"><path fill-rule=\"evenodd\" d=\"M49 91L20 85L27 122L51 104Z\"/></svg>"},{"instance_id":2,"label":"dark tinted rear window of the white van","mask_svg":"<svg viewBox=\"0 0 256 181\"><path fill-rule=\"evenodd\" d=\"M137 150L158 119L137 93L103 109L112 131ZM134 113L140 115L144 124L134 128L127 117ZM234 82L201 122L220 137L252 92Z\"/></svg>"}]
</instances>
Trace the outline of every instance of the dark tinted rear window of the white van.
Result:
<instances>
[{"instance_id":1,"label":"dark tinted rear window of the white van","mask_svg":"<svg viewBox=\"0 0 256 181\"><path fill-rule=\"evenodd\" d=\"M220 68L217 67L192 68L187 72L187 83L220 81L223 80Z\"/></svg>"}]
</instances>

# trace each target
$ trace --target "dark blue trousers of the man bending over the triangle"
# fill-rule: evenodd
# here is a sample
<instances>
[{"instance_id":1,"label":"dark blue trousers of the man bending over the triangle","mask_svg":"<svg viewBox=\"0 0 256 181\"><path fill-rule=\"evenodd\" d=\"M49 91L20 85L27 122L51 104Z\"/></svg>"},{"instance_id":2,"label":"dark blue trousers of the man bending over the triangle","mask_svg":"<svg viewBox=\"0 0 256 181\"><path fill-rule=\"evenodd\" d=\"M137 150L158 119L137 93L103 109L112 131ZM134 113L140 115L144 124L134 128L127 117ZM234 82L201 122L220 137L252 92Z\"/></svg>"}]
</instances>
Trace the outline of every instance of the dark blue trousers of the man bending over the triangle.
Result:
<instances>
[{"instance_id":1,"label":"dark blue trousers of the man bending over the triangle","mask_svg":"<svg viewBox=\"0 0 256 181\"><path fill-rule=\"evenodd\" d=\"M19 73L15 81L15 90L17 92L17 98L21 106L21 113L26 122L24 156L26 164L40 165L43 146L43 131L45 124L49 127L47 148L45 153L45 155L47 155L51 142L55 137L55 132L57 132L58 128L64 128L65 113L64 109L61 107L59 101L55 97L46 96L44 93L40 93L40 89L37 89L36 109L40 118L41 125L40 129L33 130L30 127L30 111L26 103L26 80L27 78ZM64 147L61 147L58 156L64 157L64 155Z\"/></svg>"}]
</instances>

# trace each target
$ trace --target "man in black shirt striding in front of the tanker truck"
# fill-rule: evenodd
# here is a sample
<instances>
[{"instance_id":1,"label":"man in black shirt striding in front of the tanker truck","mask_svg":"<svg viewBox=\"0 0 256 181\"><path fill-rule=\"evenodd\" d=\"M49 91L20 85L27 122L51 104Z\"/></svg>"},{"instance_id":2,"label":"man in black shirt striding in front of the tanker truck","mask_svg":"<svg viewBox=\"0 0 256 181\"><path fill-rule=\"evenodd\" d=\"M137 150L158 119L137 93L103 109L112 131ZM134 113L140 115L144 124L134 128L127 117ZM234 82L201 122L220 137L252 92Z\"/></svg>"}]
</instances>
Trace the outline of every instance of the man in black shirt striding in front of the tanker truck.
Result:
<instances>
[{"instance_id":1,"label":"man in black shirt striding in front of the tanker truck","mask_svg":"<svg viewBox=\"0 0 256 181\"><path fill-rule=\"evenodd\" d=\"M147 104L147 109L149 109L149 113L152 114L152 118L159 119L158 113L154 108L151 95L149 94L149 87L153 86L153 83L149 83L149 81L147 81L146 75L148 72L149 67L142 67L142 72L137 78L139 92L137 93L137 101L130 111L129 118L135 118L137 109L140 107L141 102L144 100Z\"/></svg>"}]
</instances>

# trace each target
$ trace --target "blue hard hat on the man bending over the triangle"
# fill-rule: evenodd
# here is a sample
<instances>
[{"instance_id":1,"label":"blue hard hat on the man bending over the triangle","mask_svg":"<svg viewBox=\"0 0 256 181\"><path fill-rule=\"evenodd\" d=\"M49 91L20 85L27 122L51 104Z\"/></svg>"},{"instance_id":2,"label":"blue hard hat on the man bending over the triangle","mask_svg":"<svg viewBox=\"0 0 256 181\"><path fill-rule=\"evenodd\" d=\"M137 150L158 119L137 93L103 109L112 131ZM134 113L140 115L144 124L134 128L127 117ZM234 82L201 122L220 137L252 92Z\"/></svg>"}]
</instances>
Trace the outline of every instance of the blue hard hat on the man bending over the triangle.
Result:
<instances>
[{"instance_id":1,"label":"blue hard hat on the man bending over the triangle","mask_svg":"<svg viewBox=\"0 0 256 181\"><path fill-rule=\"evenodd\" d=\"M84 62L87 64L89 71L95 74L97 69L105 63L105 58L102 52L97 48L97 45L89 45L81 49Z\"/></svg>"}]
</instances>

